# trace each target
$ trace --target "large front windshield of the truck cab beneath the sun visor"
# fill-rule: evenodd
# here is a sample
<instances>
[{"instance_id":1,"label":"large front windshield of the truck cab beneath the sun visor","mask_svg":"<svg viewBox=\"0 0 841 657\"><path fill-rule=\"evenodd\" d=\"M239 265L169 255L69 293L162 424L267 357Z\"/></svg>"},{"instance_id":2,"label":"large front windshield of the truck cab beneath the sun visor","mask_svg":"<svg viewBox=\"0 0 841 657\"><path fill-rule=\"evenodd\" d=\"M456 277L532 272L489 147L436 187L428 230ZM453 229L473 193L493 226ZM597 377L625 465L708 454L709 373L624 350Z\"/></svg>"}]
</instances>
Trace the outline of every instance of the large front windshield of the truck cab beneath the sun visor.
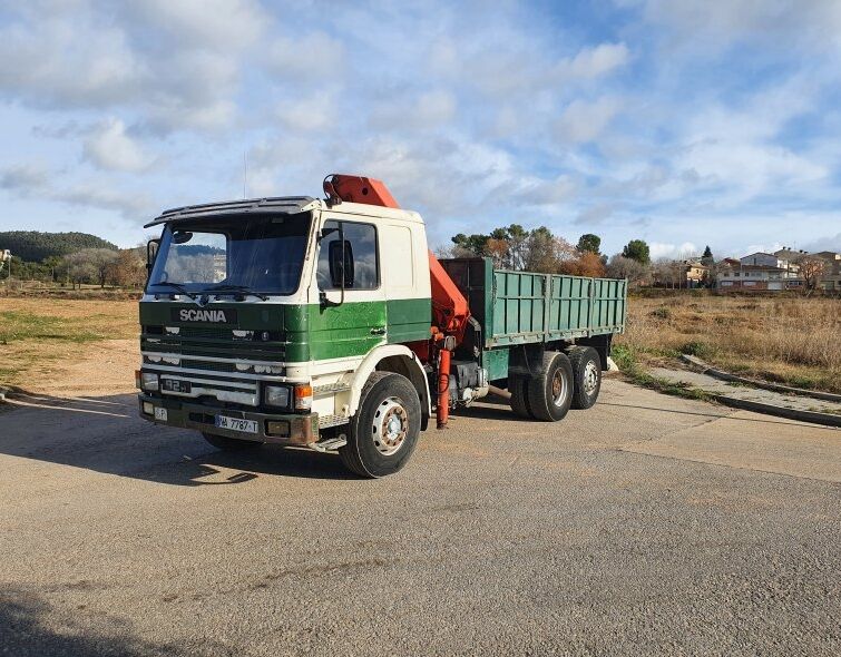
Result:
<instances>
[{"instance_id":1,"label":"large front windshield of the truck cab beneath the sun visor","mask_svg":"<svg viewBox=\"0 0 841 657\"><path fill-rule=\"evenodd\" d=\"M289 295L297 290L310 214L184 222L167 226L148 290L221 291L232 287Z\"/></svg>"}]
</instances>

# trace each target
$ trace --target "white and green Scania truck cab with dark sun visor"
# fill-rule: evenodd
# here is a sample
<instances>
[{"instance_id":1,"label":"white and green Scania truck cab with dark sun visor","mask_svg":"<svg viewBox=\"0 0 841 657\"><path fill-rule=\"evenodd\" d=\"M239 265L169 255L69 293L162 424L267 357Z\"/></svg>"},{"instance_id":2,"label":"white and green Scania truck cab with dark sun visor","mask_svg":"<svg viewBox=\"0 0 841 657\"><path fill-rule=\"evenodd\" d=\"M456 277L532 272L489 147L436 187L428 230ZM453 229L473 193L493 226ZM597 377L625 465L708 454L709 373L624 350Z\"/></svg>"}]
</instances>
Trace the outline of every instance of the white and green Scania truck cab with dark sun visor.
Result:
<instances>
[{"instance_id":1,"label":"white and green Scania truck cab with dark sun visor","mask_svg":"<svg viewBox=\"0 0 841 657\"><path fill-rule=\"evenodd\" d=\"M407 346L430 337L417 213L286 197L176 208L157 225L140 301L144 418L228 449L335 449L381 371L411 382L426 425L427 373Z\"/></svg>"}]
</instances>

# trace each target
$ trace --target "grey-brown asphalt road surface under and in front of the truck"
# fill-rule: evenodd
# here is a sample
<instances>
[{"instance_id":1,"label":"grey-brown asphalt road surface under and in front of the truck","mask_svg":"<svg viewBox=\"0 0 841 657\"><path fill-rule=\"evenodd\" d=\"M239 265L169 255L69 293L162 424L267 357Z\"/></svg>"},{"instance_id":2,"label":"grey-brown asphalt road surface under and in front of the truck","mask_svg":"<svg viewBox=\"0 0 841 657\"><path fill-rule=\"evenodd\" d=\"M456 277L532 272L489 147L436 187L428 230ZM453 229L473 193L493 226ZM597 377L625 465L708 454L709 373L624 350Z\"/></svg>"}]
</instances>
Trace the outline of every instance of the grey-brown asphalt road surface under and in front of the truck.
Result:
<instances>
[{"instance_id":1,"label":"grey-brown asphalt road surface under and in front of the truck","mask_svg":"<svg viewBox=\"0 0 841 657\"><path fill-rule=\"evenodd\" d=\"M0 414L0 654L839 655L841 432L609 381L402 473L214 451L128 395Z\"/></svg>"}]
</instances>

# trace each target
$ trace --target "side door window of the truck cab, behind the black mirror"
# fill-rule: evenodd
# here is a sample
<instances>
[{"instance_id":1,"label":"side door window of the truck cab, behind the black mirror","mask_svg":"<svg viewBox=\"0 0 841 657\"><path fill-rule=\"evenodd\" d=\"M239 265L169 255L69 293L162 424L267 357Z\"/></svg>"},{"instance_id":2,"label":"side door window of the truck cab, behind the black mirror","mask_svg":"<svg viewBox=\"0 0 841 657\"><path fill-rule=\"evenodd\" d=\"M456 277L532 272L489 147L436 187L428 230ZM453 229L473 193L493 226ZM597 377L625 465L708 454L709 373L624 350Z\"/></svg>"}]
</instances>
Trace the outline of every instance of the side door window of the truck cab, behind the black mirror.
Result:
<instances>
[{"instance_id":1,"label":"side door window of the truck cab, behind the black mirror","mask_svg":"<svg viewBox=\"0 0 841 657\"><path fill-rule=\"evenodd\" d=\"M340 226L344 233L344 261ZM380 286L377 228L371 224L331 219L324 223L324 232L319 248L319 288L339 290L344 276L345 290L377 290Z\"/></svg>"}]
</instances>

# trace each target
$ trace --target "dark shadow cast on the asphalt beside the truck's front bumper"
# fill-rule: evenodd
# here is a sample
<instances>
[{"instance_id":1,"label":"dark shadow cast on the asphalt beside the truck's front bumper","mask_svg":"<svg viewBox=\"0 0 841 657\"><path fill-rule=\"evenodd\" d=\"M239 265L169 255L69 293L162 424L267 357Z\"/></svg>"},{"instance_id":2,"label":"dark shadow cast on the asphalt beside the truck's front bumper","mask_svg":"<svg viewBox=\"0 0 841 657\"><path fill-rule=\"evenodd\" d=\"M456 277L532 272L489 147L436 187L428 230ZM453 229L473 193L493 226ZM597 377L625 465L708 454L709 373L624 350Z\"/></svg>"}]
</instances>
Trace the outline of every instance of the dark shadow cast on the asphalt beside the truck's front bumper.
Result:
<instances>
[{"instance_id":1,"label":"dark shadow cast on the asphalt beside the truck's front bumper","mask_svg":"<svg viewBox=\"0 0 841 657\"><path fill-rule=\"evenodd\" d=\"M195 431L155 426L133 394L16 395L0 412L0 454L172 486L229 486L261 475L358 479L336 454L262 445L222 452Z\"/></svg>"}]
</instances>

